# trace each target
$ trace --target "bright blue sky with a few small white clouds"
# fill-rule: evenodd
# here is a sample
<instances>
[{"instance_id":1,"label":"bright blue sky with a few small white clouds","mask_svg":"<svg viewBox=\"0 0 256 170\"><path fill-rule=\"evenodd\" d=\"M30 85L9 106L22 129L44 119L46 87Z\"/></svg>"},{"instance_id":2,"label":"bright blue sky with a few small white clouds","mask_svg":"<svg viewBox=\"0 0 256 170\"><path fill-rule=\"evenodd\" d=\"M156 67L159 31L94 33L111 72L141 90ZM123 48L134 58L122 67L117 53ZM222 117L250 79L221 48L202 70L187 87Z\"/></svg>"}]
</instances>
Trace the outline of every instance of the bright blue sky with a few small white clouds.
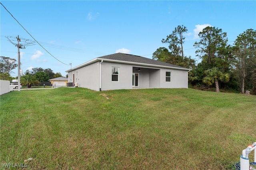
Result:
<instances>
[{"instance_id":1,"label":"bright blue sky with a few small white clouds","mask_svg":"<svg viewBox=\"0 0 256 170\"><path fill-rule=\"evenodd\" d=\"M231 45L247 29L256 30L255 0L0 2L10 12L0 6L0 56L18 61L19 35L23 73L41 67L66 76L70 68L114 53L152 59L156 49L168 48L162 39L178 25L188 29L184 55L200 62L193 45L204 27L222 29ZM12 71L18 76L18 68Z\"/></svg>"}]
</instances>

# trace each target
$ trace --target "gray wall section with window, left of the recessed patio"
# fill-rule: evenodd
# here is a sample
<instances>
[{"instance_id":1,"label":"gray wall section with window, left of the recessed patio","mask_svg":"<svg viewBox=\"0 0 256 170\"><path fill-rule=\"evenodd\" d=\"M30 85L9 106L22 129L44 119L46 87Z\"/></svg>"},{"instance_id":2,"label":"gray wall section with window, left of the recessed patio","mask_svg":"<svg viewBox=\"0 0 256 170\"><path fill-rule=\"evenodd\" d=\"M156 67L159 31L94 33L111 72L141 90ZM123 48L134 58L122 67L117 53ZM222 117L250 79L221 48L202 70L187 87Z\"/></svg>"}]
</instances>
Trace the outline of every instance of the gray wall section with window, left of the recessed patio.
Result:
<instances>
[{"instance_id":1,"label":"gray wall section with window, left of the recessed patio","mask_svg":"<svg viewBox=\"0 0 256 170\"><path fill-rule=\"evenodd\" d=\"M112 67L119 67L118 82L112 82ZM132 65L102 62L102 90L132 89Z\"/></svg>"}]
</instances>

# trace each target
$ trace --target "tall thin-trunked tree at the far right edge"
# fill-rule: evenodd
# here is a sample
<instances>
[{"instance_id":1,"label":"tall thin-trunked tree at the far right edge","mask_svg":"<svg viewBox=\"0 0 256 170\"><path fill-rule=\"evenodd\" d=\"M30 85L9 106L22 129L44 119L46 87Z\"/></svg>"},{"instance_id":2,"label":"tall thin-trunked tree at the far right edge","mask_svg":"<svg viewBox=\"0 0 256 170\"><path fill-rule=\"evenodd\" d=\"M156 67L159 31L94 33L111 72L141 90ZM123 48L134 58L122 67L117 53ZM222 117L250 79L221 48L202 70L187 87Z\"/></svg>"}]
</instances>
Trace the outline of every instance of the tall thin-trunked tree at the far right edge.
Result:
<instances>
[{"instance_id":1,"label":"tall thin-trunked tree at the far right edge","mask_svg":"<svg viewBox=\"0 0 256 170\"><path fill-rule=\"evenodd\" d=\"M253 73L256 68L256 31L247 29L238 35L235 41L234 74L238 80L242 93L246 88L252 88L255 82Z\"/></svg>"}]
</instances>

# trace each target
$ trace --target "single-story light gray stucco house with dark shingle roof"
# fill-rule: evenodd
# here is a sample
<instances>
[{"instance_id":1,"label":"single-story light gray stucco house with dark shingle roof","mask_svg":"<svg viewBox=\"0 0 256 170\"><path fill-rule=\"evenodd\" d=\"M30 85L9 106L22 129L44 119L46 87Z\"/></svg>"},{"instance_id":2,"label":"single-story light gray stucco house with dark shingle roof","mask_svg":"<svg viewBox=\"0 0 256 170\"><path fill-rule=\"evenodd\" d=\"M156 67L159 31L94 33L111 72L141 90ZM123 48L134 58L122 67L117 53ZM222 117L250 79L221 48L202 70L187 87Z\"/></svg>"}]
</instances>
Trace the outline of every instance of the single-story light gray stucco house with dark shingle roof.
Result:
<instances>
[{"instance_id":1,"label":"single-story light gray stucco house with dark shingle roof","mask_svg":"<svg viewBox=\"0 0 256 170\"><path fill-rule=\"evenodd\" d=\"M115 53L66 70L68 82L96 91L188 88L190 69L136 55Z\"/></svg>"}]
</instances>

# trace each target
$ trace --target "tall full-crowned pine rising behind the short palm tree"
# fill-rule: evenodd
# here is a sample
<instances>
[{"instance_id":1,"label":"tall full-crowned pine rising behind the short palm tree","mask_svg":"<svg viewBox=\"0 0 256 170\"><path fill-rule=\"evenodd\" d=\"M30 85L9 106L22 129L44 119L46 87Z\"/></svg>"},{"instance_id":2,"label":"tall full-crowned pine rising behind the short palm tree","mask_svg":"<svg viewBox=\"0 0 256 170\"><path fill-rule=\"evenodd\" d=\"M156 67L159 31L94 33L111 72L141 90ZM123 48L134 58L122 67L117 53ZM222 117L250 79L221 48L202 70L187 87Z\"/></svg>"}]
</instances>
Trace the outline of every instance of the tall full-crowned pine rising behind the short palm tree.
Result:
<instances>
[{"instance_id":1,"label":"tall full-crowned pine rising behind the short palm tree","mask_svg":"<svg viewBox=\"0 0 256 170\"><path fill-rule=\"evenodd\" d=\"M200 41L194 43L194 47L199 48L196 50L198 57L202 59L202 63L208 68L214 66L226 67L227 59L226 56L230 53L230 48L227 48L228 39L226 38L227 33L222 33L222 29L215 27L205 27L199 34ZM226 58L225 58L226 57Z\"/></svg>"}]
</instances>

